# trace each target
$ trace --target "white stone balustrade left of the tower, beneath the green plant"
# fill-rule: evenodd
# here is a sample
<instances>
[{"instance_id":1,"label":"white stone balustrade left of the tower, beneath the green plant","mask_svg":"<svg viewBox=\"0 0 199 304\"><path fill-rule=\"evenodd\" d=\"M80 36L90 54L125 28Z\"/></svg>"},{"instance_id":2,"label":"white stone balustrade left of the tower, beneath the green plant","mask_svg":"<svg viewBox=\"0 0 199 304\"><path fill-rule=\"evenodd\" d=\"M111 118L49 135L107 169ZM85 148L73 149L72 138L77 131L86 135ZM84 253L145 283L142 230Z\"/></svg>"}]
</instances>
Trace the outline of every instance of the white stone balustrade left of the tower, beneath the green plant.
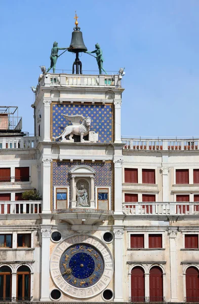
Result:
<instances>
[{"instance_id":1,"label":"white stone balustrade left of the tower, beneath the green plant","mask_svg":"<svg viewBox=\"0 0 199 304\"><path fill-rule=\"evenodd\" d=\"M0 201L0 214L38 214L42 201Z\"/></svg>"}]
</instances>

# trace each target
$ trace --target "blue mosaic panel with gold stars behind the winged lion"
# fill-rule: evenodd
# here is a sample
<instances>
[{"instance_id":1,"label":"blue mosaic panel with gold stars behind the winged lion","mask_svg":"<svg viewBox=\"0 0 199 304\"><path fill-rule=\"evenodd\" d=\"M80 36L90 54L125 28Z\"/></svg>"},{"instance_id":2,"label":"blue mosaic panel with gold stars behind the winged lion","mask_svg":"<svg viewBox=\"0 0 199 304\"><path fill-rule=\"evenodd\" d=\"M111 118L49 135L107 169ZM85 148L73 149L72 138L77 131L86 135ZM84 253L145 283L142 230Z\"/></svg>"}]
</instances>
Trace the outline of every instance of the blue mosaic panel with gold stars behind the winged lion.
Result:
<instances>
[{"instance_id":1,"label":"blue mosaic panel with gold stars behind the winged lion","mask_svg":"<svg viewBox=\"0 0 199 304\"><path fill-rule=\"evenodd\" d=\"M86 104L52 104L52 136L62 134L65 127L71 125L63 116L82 115L91 118L91 131L98 133L98 142L113 142L112 105L86 105ZM82 123L82 121L81 121ZM68 139L68 137L66 137ZM56 141L56 139L52 139ZM61 138L57 139L60 141Z\"/></svg>"}]
</instances>

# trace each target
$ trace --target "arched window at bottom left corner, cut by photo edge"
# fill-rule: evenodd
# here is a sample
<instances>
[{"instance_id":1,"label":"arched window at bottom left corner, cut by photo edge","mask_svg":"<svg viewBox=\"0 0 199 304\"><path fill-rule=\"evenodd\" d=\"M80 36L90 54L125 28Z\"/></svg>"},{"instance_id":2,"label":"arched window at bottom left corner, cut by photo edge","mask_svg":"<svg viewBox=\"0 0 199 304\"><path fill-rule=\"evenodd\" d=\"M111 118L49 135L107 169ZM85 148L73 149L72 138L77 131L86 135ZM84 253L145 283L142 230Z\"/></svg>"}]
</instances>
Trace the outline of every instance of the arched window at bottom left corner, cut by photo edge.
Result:
<instances>
[{"instance_id":1,"label":"arched window at bottom left corner, cut by photo edge","mask_svg":"<svg viewBox=\"0 0 199 304\"><path fill-rule=\"evenodd\" d=\"M0 301L11 301L12 276L8 266L0 268Z\"/></svg>"}]
</instances>

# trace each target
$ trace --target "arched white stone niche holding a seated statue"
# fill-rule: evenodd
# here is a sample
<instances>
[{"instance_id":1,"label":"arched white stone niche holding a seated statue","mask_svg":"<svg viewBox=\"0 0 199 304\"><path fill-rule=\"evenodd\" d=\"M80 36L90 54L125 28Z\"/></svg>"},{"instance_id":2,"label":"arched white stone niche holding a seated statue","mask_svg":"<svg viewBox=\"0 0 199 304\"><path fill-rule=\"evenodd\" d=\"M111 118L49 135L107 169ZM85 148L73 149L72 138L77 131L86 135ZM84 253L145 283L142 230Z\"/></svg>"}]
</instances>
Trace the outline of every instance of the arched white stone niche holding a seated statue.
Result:
<instances>
[{"instance_id":1,"label":"arched white stone niche holding a seated statue","mask_svg":"<svg viewBox=\"0 0 199 304\"><path fill-rule=\"evenodd\" d=\"M95 171L86 165L76 166L70 171L70 208L95 209L94 177Z\"/></svg>"}]
</instances>

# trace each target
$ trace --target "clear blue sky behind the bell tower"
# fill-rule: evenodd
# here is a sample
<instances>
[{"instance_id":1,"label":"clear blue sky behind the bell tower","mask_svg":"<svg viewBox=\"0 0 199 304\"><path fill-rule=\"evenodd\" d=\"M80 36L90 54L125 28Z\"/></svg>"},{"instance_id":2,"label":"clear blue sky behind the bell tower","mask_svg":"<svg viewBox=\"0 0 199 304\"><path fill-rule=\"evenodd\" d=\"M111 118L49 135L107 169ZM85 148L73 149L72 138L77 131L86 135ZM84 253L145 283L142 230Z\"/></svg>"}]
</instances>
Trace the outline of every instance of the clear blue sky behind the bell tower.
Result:
<instances>
[{"instance_id":1,"label":"clear blue sky behind the bell tower","mask_svg":"<svg viewBox=\"0 0 199 304\"><path fill-rule=\"evenodd\" d=\"M55 40L69 46L75 10L88 50L101 46L104 68L125 66L122 134L199 135L198 0L0 0L0 104L19 106L23 131L33 133L39 65L50 65ZM66 52L56 67L71 69L73 60ZM81 60L97 69L95 58Z\"/></svg>"}]
</instances>

